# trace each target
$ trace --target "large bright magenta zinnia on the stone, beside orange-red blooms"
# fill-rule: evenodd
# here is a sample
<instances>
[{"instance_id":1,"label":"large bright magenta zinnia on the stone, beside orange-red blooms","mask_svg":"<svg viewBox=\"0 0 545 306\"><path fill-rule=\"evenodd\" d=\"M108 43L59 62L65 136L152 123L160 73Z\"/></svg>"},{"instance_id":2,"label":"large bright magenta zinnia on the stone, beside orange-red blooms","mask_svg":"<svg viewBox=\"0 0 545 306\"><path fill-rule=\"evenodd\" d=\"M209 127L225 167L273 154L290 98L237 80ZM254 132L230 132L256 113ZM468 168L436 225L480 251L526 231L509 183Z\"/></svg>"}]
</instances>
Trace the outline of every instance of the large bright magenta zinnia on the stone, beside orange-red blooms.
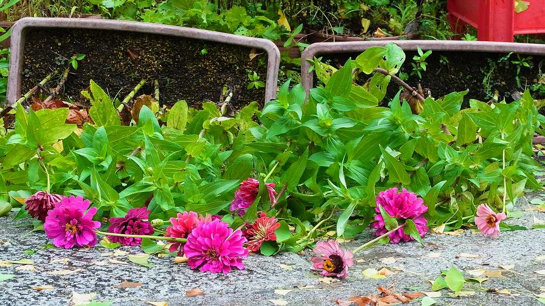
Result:
<instances>
[{"instance_id":1,"label":"large bright magenta zinnia on the stone, beside orange-red blooms","mask_svg":"<svg viewBox=\"0 0 545 306\"><path fill-rule=\"evenodd\" d=\"M200 268L201 272L229 273L232 268L243 270L242 260L248 256L244 242L246 238L242 232L233 232L225 222L201 222L187 236L184 255L189 259L187 264L192 269Z\"/></svg>"}]
</instances>

